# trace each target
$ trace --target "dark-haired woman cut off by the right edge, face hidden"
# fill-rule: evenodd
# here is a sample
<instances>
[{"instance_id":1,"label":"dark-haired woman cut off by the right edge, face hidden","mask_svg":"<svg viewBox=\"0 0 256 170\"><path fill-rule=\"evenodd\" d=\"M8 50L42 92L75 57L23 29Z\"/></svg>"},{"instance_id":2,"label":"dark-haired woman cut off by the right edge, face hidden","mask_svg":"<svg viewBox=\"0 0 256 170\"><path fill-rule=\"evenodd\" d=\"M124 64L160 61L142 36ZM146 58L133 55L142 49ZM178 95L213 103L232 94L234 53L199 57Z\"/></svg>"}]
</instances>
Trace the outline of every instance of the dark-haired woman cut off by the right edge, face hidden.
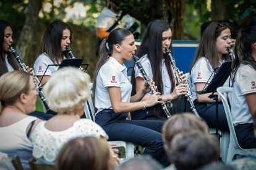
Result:
<instances>
[{"instance_id":1,"label":"dark-haired woman cut off by the right edge, face hidden","mask_svg":"<svg viewBox=\"0 0 256 170\"><path fill-rule=\"evenodd\" d=\"M256 26L241 29L236 36L233 63L231 114L239 145L256 148L253 116L256 114Z\"/></svg>"}]
</instances>

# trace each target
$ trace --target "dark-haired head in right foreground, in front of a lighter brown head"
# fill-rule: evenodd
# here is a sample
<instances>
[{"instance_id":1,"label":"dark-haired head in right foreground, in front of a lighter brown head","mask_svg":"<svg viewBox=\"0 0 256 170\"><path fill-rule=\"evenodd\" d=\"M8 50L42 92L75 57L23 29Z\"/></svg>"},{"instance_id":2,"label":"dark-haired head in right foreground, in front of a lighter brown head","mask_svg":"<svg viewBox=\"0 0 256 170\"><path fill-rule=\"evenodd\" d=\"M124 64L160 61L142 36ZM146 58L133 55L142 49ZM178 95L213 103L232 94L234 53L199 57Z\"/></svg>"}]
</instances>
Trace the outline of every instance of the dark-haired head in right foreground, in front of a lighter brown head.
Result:
<instances>
[{"instance_id":1,"label":"dark-haired head in right foreground, in front of a lighter brown head","mask_svg":"<svg viewBox=\"0 0 256 170\"><path fill-rule=\"evenodd\" d=\"M171 141L169 158L177 170L195 170L215 164L220 156L220 144L213 134L200 131L181 133Z\"/></svg>"}]
</instances>

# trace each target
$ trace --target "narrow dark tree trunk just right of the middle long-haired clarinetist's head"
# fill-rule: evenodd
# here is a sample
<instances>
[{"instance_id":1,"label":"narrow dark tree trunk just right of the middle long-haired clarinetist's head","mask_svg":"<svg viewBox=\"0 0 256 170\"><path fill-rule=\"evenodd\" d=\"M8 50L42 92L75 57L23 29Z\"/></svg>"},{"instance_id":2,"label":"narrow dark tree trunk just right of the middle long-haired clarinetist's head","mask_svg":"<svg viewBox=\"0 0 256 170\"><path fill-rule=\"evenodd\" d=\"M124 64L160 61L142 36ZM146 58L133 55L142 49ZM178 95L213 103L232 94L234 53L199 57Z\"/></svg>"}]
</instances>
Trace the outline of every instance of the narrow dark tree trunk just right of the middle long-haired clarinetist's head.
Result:
<instances>
[{"instance_id":1,"label":"narrow dark tree trunk just right of the middle long-haired clarinetist's head","mask_svg":"<svg viewBox=\"0 0 256 170\"><path fill-rule=\"evenodd\" d=\"M184 39L184 25L185 25L185 0L170 0L169 6L171 9L170 25L173 26L173 39Z\"/></svg>"}]
</instances>

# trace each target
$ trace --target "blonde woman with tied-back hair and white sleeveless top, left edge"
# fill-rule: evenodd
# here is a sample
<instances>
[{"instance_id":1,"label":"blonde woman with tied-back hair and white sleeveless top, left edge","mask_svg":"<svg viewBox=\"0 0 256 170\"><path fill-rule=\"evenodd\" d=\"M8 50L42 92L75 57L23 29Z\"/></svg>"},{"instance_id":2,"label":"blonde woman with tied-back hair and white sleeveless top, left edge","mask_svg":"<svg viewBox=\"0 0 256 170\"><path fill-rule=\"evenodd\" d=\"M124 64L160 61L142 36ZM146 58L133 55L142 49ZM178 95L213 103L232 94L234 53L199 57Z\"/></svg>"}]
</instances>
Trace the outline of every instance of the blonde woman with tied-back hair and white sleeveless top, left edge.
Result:
<instances>
[{"instance_id":1,"label":"blonde woman with tied-back hair and white sleeveless top, left edge","mask_svg":"<svg viewBox=\"0 0 256 170\"><path fill-rule=\"evenodd\" d=\"M35 111L38 91L32 76L24 71L4 73L0 77L0 152L11 159L19 155L23 169L30 169L31 134L41 119L28 116Z\"/></svg>"}]
</instances>

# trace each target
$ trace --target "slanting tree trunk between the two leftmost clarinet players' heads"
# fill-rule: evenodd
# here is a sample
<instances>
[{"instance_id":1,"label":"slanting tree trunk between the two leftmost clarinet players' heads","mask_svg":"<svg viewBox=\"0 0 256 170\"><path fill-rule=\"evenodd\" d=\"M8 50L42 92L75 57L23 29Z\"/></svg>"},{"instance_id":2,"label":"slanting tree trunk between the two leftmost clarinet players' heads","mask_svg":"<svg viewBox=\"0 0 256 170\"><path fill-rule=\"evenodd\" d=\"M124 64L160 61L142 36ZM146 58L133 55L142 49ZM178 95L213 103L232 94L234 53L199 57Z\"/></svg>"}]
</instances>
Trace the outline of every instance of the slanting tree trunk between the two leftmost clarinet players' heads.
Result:
<instances>
[{"instance_id":1,"label":"slanting tree trunk between the two leftmost clarinet players' heads","mask_svg":"<svg viewBox=\"0 0 256 170\"><path fill-rule=\"evenodd\" d=\"M32 47L33 31L38 19L38 12L40 8L41 0L28 1L27 17L15 47L15 50L18 52L24 63L27 62L28 53Z\"/></svg>"}]
</instances>

